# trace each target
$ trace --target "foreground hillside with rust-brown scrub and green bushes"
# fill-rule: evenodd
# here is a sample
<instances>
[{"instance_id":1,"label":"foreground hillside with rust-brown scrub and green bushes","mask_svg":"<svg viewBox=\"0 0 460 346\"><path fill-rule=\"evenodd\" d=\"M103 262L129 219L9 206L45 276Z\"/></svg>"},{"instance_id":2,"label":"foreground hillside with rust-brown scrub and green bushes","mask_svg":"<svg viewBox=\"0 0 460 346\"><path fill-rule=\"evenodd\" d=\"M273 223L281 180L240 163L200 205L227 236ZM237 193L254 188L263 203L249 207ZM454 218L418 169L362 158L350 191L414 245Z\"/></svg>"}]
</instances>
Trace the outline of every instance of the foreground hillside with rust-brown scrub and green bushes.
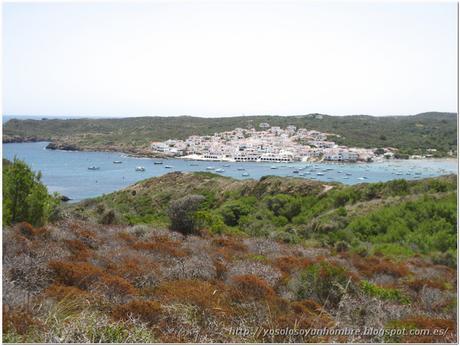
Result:
<instances>
[{"instance_id":1,"label":"foreground hillside with rust-brown scrub and green bushes","mask_svg":"<svg viewBox=\"0 0 460 346\"><path fill-rule=\"evenodd\" d=\"M56 214L4 230L4 342L457 340L455 176L170 173Z\"/></svg>"}]
</instances>

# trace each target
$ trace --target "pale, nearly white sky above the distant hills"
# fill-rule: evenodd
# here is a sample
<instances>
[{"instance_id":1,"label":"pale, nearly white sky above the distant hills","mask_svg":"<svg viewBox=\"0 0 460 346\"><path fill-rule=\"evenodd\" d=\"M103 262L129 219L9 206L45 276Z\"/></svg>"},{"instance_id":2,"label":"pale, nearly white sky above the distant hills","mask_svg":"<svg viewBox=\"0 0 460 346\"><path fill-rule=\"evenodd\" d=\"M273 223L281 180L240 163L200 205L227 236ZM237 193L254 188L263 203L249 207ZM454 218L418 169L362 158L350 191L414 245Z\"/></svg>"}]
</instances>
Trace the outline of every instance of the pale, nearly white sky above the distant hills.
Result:
<instances>
[{"instance_id":1,"label":"pale, nearly white sky above the distant hills","mask_svg":"<svg viewBox=\"0 0 460 346\"><path fill-rule=\"evenodd\" d=\"M3 3L3 114L457 109L455 2Z\"/></svg>"}]
</instances>

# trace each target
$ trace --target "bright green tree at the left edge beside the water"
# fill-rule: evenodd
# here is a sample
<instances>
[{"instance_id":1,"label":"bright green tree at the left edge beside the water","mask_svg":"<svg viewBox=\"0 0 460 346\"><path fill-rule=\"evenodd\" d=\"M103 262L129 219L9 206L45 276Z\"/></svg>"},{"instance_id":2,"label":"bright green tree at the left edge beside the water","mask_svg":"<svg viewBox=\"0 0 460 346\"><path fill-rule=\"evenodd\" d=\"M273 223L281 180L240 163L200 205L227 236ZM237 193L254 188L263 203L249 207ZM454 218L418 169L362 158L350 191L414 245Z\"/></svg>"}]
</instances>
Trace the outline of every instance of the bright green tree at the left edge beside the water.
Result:
<instances>
[{"instance_id":1,"label":"bright green tree at the left edge beside the water","mask_svg":"<svg viewBox=\"0 0 460 346\"><path fill-rule=\"evenodd\" d=\"M41 183L41 173L16 157L3 168L3 224L27 221L42 226L48 220L56 200Z\"/></svg>"}]
</instances>

